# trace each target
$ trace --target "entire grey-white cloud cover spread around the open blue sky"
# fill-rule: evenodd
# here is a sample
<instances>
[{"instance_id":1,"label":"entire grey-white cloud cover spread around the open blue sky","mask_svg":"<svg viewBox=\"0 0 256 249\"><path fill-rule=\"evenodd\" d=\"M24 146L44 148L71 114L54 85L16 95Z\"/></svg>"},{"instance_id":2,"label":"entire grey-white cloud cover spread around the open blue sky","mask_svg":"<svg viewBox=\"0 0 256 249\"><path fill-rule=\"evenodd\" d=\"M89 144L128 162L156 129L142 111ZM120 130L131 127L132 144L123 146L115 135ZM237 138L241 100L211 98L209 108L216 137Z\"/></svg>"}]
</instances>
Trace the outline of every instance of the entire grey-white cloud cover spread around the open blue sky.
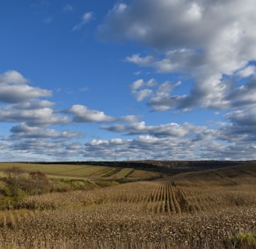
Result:
<instances>
[{"instance_id":1,"label":"entire grey-white cloud cover spread around the open blue sky","mask_svg":"<svg viewBox=\"0 0 256 249\"><path fill-rule=\"evenodd\" d=\"M80 103L56 110L46 100L52 91L30 86L13 70L0 75L0 121L13 124L9 135L0 136L2 154L44 154L44 160L255 160L254 6L254 0L131 0L117 3L98 26L101 40L148 47L147 54L127 54L126 63L170 76L159 82L140 73L130 82L134 100L154 112L214 110L221 122L147 125L136 115L113 117ZM73 30L93 16L85 12ZM181 95L178 90L186 86ZM78 123L93 123L117 138L83 140L86 132L66 129Z\"/></svg>"}]
</instances>

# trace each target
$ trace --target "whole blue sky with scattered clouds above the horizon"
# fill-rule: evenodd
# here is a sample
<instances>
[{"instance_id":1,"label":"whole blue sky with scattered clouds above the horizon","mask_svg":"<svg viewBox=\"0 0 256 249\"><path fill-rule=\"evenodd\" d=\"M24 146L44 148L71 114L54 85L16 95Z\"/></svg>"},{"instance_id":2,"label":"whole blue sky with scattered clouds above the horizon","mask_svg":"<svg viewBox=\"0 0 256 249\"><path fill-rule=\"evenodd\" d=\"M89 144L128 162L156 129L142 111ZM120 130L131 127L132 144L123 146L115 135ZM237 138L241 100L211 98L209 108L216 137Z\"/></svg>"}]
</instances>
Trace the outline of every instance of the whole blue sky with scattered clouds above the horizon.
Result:
<instances>
[{"instance_id":1,"label":"whole blue sky with scattered clouds above the horizon","mask_svg":"<svg viewBox=\"0 0 256 249\"><path fill-rule=\"evenodd\" d=\"M254 0L0 5L0 161L256 160Z\"/></svg>"}]
</instances>

